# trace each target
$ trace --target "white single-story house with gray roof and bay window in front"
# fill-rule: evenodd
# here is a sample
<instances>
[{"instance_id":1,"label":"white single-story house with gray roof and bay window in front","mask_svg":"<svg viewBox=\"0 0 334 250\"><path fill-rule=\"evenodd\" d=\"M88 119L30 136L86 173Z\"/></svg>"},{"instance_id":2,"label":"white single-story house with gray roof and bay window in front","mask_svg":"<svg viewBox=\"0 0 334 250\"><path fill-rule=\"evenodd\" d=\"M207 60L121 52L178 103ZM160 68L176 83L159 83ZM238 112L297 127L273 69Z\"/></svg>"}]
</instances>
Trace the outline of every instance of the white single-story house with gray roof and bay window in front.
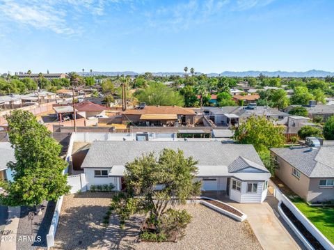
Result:
<instances>
[{"instance_id":1,"label":"white single-story house with gray roof and bay window in front","mask_svg":"<svg viewBox=\"0 0 334 250\"><path fill-rule=\"evenodd\" d=\"M94 141L81 165L88 189L110 183L124 189L125 164L164 148L198 160L196 180L202 181L202 191L226 192L239 203L261 203L267 197L271 174L254 147L218 141Z\"/></svg>"}]
</instances>

